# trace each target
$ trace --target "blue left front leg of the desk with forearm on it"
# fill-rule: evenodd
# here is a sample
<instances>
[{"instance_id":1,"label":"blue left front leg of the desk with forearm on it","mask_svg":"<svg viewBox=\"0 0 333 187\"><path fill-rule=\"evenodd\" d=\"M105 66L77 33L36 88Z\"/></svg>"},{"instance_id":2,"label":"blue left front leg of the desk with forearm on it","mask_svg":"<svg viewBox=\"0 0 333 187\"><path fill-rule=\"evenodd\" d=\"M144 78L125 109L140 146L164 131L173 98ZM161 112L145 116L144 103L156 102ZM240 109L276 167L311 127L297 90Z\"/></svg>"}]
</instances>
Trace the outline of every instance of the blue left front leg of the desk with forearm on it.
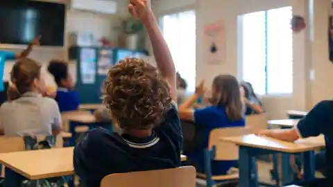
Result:
<instances>
[{"instance_id":1,"label":"blue left front leg of the desk with forearm on it","mask_svg":"<svg viewBox=\"0 0 333 187\"><path fill-rule=\"evenodd\" d=\"M239 186L259 186L257 181L257 168L255 168L255 160L250 157L250 154L248 154L248 148L243 146L239 146Z\"/></svg>"}]
</instances>

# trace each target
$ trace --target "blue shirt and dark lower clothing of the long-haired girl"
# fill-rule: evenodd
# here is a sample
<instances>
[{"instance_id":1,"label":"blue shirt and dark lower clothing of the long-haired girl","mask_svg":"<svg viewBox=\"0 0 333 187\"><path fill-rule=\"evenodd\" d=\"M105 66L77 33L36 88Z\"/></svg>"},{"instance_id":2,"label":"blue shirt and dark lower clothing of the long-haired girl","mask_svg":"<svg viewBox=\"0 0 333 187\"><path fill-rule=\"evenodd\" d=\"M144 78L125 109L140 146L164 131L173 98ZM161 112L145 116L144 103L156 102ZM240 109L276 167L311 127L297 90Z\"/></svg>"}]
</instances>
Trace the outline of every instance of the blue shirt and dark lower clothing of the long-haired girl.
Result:
<instances>
[{"instance_id":1,"label":"blue shirt and dark lower clothing of the long-haired girl","mask_svg":"<svg viewBox=\"0 0 333 187\"><path fill-rule=\"evenodd\" d=\"M195 125L203 125L205 127L205 136L202 148L198 148L189 159L196 166L198 172L204 172L203 150L208 147L210 132L215 128L221 127L244 127L245 121L230 121L225 113L224 107L210 106L203 109L194 110ZM212 174L225 175L231 167L237 166L237 161L212 161Z\"/></svg>"}]
</instances>

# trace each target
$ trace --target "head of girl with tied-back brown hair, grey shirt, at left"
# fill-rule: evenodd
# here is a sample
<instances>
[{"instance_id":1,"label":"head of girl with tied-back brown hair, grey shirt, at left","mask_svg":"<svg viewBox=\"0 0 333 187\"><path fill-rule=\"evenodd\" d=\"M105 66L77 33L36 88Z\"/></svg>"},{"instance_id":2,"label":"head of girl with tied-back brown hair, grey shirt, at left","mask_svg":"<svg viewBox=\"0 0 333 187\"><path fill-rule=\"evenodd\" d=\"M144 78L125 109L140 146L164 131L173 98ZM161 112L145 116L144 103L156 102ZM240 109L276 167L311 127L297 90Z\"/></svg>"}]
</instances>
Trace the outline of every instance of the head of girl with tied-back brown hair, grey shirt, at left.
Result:
<instances>
[{"instance_id":1,"label":"head of girl with tied-back brown hair, grey shirt, at left","mask_svg":"<svg viewBox=\"0 0 333 187\"><path fill-rule=\"evenodd\" d=\"M44 94L46 84L44 73L40 71L41 67L39 63L28 58L17 60L10 72L10 80L13 85L9 89L9 98L15 99L30 91Z\"/></svg>"}]
</instances>

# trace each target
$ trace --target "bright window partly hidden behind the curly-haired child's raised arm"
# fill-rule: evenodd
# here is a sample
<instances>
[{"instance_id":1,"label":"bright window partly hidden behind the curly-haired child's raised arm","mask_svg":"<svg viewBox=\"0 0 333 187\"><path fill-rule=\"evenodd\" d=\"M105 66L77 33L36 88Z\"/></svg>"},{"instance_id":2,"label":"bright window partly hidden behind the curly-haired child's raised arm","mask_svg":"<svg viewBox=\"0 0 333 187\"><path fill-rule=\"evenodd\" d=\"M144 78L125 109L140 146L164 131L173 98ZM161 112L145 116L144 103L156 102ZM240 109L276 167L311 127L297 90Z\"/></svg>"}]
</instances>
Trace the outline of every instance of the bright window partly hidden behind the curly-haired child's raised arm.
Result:
<instances>
[{"instance_id":1,"label":"bright window partly hidden behind the curly-haired child's raised arm","mask_svg":"<svg viewBox=\"0 0 333 187\"><path fill-rule=\"evenodd\" d=\"M187 82L187 90L196 88L196 13L194 10L165 15L161 19L164 39L170 48L176 71Z\"/></svg>"}]
</instances>

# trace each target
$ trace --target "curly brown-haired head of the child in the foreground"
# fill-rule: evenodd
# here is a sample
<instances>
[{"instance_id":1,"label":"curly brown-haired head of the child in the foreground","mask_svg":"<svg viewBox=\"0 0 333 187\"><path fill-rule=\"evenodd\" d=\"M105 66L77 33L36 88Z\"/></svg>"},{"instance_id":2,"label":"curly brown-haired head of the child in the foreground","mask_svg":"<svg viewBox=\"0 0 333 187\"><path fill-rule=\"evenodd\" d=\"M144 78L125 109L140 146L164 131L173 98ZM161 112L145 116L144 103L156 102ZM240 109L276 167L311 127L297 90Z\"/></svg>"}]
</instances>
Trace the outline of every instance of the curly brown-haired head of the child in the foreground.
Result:
<instances>
[{"instance_id":1,"label":"curly brown-haired head of the child in the foreground","mask_svg":"<svg viewBox=\"0 0 333 187\"><path fill-rule=\"evenodd\" d=\"M169 84L157 69L137 58L121 60L105 80L105 105L123 130L151 130L169 109Z\"/></svg>"}]
</instances>

